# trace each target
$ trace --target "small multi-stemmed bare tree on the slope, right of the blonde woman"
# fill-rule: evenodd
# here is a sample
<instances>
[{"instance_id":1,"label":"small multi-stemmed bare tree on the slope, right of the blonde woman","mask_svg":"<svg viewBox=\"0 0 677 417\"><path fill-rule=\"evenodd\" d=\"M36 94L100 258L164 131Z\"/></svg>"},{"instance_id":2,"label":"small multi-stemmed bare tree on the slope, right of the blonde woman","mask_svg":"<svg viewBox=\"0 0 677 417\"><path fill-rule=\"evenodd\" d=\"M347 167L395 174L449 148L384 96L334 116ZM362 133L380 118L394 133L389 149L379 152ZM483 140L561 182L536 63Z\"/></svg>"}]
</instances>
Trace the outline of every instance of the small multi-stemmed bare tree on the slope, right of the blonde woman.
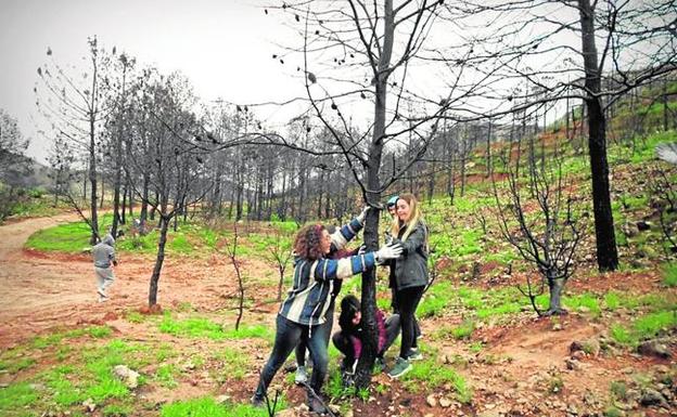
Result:
<instances>
[{"instance_id":1,"label":"small multi-stemmed bare tree on the slope, right of the blonde woman","mask_svg":"<svg viewBox=\"0 0 677 417\"><path fill-rule=\"evenodd\" d=\"M528 149L531 169L518 170L520 153L510 160L512 147L503 155L508 170L507 190L499 188L496 180L494 197L500 232L520 256L533 264L540 279L533 283L527 275L527 296L536 313L540 315L564 314L561 295L567 279L574 273L576 249L583 237L582 217L576 210L576 198L571 193L571 183L562 173L561 155L537 158L534 148ZM546 162L547 161L547 162ZM536 297L550 292L550 305L542 312L536 304Z\"/></svg>"}]
</instances>

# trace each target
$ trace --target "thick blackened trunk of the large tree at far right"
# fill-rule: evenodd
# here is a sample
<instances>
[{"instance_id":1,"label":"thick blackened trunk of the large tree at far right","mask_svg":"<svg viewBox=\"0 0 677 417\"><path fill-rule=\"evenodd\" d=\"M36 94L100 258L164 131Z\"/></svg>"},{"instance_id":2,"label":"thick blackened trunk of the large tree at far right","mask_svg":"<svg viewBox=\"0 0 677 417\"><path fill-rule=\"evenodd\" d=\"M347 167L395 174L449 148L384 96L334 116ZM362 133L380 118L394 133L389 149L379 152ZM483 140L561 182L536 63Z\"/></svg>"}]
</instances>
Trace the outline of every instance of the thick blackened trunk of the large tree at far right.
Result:
<instances>
[{"instance_id":1,"label":"thick blackened trunk of the large tree at far right","mask_svg":"<svg viewBox=\"0 0 677 417\"><path fill-rule=\"evenodd\" d=\"M595 45L595 12L589 0L578 0L580 26L583 29L583 56L586 73L585 99L588 109L588 146L592 171L592 206L595 211L595 236L597 240L597 265L600 271L615 271L618 268L618 252L611 211L609 184L609 161L606 159L606 120L600 97L600 68Z\"/></svg>"}]
</instances>

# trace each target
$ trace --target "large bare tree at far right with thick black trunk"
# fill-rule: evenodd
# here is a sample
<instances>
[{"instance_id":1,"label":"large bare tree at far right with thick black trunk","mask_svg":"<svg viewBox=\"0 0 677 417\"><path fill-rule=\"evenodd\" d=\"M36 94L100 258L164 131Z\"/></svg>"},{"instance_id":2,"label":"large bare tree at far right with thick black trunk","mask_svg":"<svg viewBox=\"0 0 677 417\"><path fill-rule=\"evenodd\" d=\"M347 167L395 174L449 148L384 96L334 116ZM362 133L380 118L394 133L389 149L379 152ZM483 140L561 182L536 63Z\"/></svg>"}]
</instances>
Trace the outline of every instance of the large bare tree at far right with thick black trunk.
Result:
<instances>
[{"instance_id":1,"label":"large bare tree at far right with thick black trunk","mask_svg":"<svg viewBox=\"0 0 677 417\"><path fill-rule=\"evenodd\" d=\"M625 94L675 70L674 0L467 1L464 10L475 22L491 22L473 37L481 51L471 60L489 70L496 66L486 65L487 58L504 64L490 75L497 88L484 94L495 103L491 115L535 113L544 103L571 99L585 103L597 261L601 271L615 270L606 118ZM578 45L571 41L576 38ZM489 75L483 66L475 68ZM519 89L525 79L536 88Z\"/></svg>"}]
</instances>

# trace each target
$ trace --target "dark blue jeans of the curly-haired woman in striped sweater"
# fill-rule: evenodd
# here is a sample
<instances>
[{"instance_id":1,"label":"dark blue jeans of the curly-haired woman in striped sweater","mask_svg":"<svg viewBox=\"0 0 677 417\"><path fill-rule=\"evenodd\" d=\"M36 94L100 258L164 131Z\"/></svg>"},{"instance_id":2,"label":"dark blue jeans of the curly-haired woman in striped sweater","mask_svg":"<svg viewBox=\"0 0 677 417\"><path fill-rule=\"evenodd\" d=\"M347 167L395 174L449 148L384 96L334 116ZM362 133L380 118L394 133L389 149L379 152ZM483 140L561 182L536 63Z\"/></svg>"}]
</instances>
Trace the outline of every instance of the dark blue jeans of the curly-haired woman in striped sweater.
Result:
<instances>
[{"instance_id":1,"label":"dark blue jeans of the curly-haired woman in striped sweater","mask_svg":"<svg viewBox=\"0 0 677 417\"><path fill-rule=\"evenodd\" d=\"M272 377L274 377L280 367L284 364L284 361L286 361L286 357L301 340L306 341L308 350L310 351L310 356L312 357L310 387L319 395L322 383L324 383L327 364L329 362L329 355L327 353L327 340L329 340L329 335L327 334L328 329L329 327L323 324L309 328L309 326L294 323L278 314L274 346L258 379L256 396L259 399L264 396L270 386Z\"/></svg>"}]
</instances>

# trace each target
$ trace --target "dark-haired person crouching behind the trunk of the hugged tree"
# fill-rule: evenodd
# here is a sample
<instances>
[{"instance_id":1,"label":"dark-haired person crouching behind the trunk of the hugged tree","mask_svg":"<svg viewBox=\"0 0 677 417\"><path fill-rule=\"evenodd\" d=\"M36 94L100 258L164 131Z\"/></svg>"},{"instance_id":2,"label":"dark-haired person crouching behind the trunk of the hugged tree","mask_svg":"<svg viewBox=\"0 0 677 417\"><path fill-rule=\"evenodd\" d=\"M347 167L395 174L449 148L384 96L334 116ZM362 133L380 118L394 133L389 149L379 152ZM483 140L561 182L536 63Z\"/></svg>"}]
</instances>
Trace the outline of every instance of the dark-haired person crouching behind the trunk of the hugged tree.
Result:
<instances>
[{"instance_id":1,"label":"dark-haired person crouching behind the trunk of the hugged tree","mask_svg":"<svg viewBox=\"0 0 677 417\"><path fill-rule=\"evenodd\" d=\"M357 367L357 361L362 352L362 313L360 301L353 295L347 295L341 301L341 315L338 317L341 331L332 336L334 346L345 355L341 364L343 382L353 385L353 377ZM379 330L376 365L383 366L383 355L399 335L399 314L393 314L385 320L381 310L376 309L376 328Z\"/></svg>"}]
</instances>

